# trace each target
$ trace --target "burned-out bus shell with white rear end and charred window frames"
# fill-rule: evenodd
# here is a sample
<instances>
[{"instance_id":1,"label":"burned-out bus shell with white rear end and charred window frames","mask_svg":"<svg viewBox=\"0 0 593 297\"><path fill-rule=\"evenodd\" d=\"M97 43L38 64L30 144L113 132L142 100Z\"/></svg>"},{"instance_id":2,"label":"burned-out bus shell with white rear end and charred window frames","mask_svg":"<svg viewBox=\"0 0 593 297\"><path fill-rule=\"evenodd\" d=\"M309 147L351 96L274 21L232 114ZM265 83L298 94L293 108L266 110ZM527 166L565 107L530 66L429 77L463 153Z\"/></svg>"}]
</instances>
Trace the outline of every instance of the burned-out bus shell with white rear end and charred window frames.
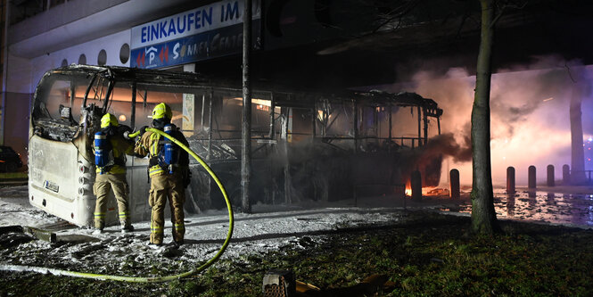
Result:
<instances>
[{"instance_id":1,"label":"burned-out bus shell with white rear end and charred window frames","mask_svg":"<svg viewBox=\"0 0 593 297\"><path fill-rule=\"evenodd\" d=\"M241 202L242 88L194 73L70 65L50 70L34 95L29 126L29 202L78 226L95 210L92 142L104 113L130 130L150 126L167 103L190 148ZM425 150L441 134L442 110L413 93L302 92L259 88L251 100L251 203L350 199L381 188L403 194L410 172L437 186L442 156ZM150 218L147 159L128 156L130 215ZM185 209L225 207L197 161ZM112 195L112 194L111 194ZM107 224L117 222L110 199Z\"/></svg>"}]
</instances>

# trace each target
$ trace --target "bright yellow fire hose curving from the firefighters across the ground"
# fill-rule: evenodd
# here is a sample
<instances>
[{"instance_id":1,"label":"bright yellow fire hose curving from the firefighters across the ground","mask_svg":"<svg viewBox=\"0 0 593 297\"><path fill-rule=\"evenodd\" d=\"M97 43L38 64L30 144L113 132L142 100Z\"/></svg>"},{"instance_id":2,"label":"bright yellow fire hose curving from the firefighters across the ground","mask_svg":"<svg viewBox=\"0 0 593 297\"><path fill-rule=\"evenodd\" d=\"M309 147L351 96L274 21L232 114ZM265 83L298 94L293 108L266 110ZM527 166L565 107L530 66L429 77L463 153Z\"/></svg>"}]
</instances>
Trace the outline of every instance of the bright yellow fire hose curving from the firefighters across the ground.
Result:
<instances>
[{"instance_id":1,"label":"bright yellow fire hose curving from the firefighters across the ground","mask_svg":"<svg viewBox=\"0 0 593 297\"><path fill-rule=\"evenodd\" d=\"M187 153L191 154L192 157L194 157L194 159L196 161L200 162L202 167L204 169L206 169L206 171L208 171L208 173L210 174L210 177L212 177L212 179L214 179L214 181L216 181L218 188L220 189L220 192L225 197L226 208L228 209L228 232L226 234L225 243L222 244L222 246L220 247L218 252L214 255L214 257L212 257L210 260L206 261L204 264L202 264L202 266L195 268L194 270L190 270L190 271L187 271L187 272L184 272L184 273L181 273L178 275L174 275L174 276L155 276L155 277L111 276L111 275L100 275L100 274L94 274L94 273L69 271L69 270L54 269L54 268L22 266L22 265L0 265L0 270L22 271L22 272L29 271L29 272L37 272L37 273L42 273L42 274L51 273L56 276L74 276L74 277L92 278L92 279L98 279L98 280L115 280L115 281L122 281L122 282L131 282L131 283L161 283L161 282L170 282L170 281L188 277L188 276L194 276L194 275L204 271L206 268L209 268L210 265L214 264L214 262L216 262L218 260L218 258L220 258L220 256L222 256L222 254L225 252L226 247L228 246L228 243L230 242L231 237L233 235L233 227L234 227L233 208L231 207L231 202L228 199L228 195L226 194L225 187L222 186L222 183L220 182L220 180L218 179L216 174L214 174L212 169L210 169L210 166L208 166L208 164L206 164L206 162L204 162L202 160L202 158L200 158L196 153L194 153L194 151L192 151L190 148L185 146L185 144L180 143L177 139L173 138L172 136L169 136L167 133L162 132L159 129L146 128L146 131L150 131L152 133L156 133L161 136L167 137L171 142L179 145ZM128 137L134 138L134 137L138 136L139 134L140 134L140 131L137 131L136 133L128 135Z\"/></svg>"}]
</instances>

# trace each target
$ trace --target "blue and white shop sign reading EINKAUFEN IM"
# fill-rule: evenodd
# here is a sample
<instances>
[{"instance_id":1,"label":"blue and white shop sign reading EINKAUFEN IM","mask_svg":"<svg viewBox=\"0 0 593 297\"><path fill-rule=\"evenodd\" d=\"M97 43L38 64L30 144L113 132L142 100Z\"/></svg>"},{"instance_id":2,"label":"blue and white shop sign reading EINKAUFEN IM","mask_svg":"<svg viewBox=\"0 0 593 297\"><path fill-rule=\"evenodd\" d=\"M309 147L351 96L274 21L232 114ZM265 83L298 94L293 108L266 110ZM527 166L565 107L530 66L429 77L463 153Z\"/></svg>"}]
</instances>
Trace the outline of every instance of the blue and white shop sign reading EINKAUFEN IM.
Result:
<instances>
[{"instance_id":1,"label":"blue and white shop sign reading EINKAUFEN IM","mask_svg":"<svg viewBox=\"0 0 593 297\"><path fill-rule=\"evenodd\" d=\"M243 0L226 0L132 28L130 67L160 68L243 49ZM252 40L258 44L261 5L252 5Z\"/></svg>"}]
</instances>

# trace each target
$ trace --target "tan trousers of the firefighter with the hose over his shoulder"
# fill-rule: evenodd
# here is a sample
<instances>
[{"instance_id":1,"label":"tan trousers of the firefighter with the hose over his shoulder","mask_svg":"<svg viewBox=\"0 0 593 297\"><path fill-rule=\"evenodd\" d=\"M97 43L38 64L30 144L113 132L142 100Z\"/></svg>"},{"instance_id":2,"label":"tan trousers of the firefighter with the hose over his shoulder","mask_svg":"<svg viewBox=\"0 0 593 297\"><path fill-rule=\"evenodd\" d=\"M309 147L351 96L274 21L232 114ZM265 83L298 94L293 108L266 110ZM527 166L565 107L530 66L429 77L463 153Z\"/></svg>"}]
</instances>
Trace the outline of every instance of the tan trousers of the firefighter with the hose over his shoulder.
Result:
<instances>
[{"instance_id":1,"label":"tan trousers of the firefighter with the hose over his shoulder","mask_svg":"<svg viewBox=\"0 0 593 297\"><path fill-rule=\"evenodd\" d=\"M185 224L184 210L185 187L181 174L164 174L151 177L151 190L148 203L152 207L151 243L161 244L163 227L165 226L165 203L169 200L171 223L173 225L173 241L184 242Z\"/></svg>"}]
</instances>

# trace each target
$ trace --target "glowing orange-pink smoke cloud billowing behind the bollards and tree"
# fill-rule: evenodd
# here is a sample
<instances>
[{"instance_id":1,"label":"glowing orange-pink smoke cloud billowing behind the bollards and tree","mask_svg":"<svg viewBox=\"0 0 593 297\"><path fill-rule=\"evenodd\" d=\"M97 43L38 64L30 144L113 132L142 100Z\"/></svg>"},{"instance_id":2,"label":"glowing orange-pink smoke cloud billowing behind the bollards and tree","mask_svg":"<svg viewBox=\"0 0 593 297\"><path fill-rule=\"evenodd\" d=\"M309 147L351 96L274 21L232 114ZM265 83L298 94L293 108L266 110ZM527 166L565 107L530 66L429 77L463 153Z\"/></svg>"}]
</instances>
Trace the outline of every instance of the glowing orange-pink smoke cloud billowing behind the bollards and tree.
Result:
<instances>
[{"instance_id":1,"label":"glowing orange-pink smoke cloud billowing behind the bollards and tree","mask_svg":"<svg viewBox=\"0 0 593 297\"><path fill-rule=\"evenodd\" d=\"M539 182L545 180L548 164L555 166L556 178L562 177L562 166L571 165L569 105L572 92L577 82L593 84L593 67L550 56L536 57L530 64L496 72L492 75L490 90L493 183L506 183L509 166L515 167L517 186L527 184L530 165L536 166ZM461 68L449 69L444 75L419 70L407 84L383 86L391 92L416 92L439 103L444 111L442 135L432 138L430 150L446 157L441 176L449 176L449 169L459 169L464 185L471 185L472 181L470 140L474 86L475 76ZM591 92L581 93L583 131L587 139L593 132L593 117L588 116L593 111L593 103ZM441 186L446 186L447 182L441 180Z\"/></svg>"}]
</instances>

